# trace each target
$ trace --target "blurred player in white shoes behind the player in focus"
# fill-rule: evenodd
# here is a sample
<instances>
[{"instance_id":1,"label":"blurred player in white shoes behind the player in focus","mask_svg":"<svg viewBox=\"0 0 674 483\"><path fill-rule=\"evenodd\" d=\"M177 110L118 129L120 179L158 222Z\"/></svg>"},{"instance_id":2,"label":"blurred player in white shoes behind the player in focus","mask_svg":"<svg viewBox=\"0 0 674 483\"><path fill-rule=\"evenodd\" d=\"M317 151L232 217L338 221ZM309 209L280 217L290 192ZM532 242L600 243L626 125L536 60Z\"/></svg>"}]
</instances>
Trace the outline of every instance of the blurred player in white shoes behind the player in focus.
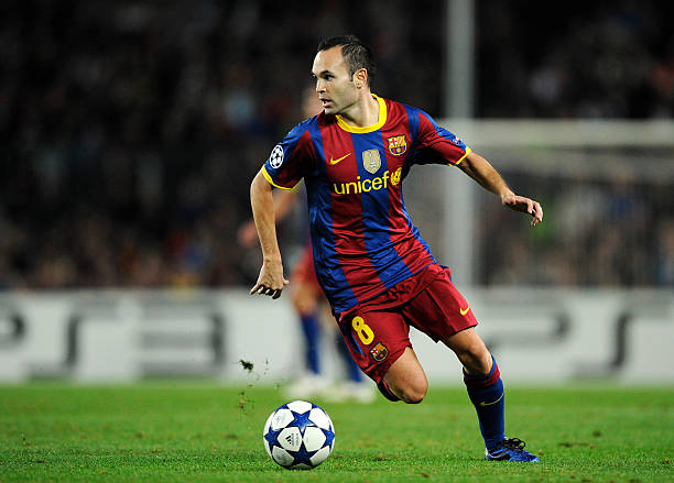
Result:
<instances>
[{"instance_id":1,"label":"blurred player in white shoes behind the player in focus","mask_svg":"<svg viewBox=\"0 0 674 483\"><path fill-rule=\"evenodd\" d=\"M302 116L304 119L317 116L323 110L318 95L313 86L302 92ZM281 190L274 194L274 211L276 221L281 222L291 212L297 200L306 200L303 189L297 187L293 190ZM303 201L303 211L306 211L306 202ZM306 213L303 213L306 220ZM304 245L297 262L291 272L290 295L291 301L302 327L304 341L304 374L293 381L284 388L284 395L289 398L309 398L314 396L325 397L328 400L355 400L370 403L374 400L374 388L365 380L358 364L351 358L348 348L336 330L333 318L329 315L329 306L323 294L323 289L316 279L314 272L314 253L308 235L308 228L303 229ZM238 233L239 243L244 248L252 248L258 243L258 232L252 220L244 223ZM325 329L325 332L324 332ZM346 377L336 384L330 384L323 370L323 337L334 341L335 352L344 362Z\"/></svg>"}]
</instances>

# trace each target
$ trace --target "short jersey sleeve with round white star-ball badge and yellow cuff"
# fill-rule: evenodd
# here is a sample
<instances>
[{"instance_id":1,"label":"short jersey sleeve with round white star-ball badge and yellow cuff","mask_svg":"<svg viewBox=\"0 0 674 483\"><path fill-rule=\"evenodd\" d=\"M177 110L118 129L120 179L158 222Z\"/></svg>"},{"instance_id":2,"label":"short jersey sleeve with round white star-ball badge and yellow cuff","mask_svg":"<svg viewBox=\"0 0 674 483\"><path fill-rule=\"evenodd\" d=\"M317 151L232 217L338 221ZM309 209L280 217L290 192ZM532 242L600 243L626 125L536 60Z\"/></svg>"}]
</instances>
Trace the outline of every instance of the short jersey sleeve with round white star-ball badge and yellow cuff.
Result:
<instances>
[{"instance_id":1,"label":"short jersey sleeve with round white star-ball badge and yellow cuff","mask_svg":"<svg viewBox=\"0 0 674 483\"><path fill-rule=\"evenodd\" d=\"M293 128L279 144L274 146L262 166L262 174L276 188L292 189L316 166L312 136L308 123L315 118Z\"/></svg>"}]
</instances>

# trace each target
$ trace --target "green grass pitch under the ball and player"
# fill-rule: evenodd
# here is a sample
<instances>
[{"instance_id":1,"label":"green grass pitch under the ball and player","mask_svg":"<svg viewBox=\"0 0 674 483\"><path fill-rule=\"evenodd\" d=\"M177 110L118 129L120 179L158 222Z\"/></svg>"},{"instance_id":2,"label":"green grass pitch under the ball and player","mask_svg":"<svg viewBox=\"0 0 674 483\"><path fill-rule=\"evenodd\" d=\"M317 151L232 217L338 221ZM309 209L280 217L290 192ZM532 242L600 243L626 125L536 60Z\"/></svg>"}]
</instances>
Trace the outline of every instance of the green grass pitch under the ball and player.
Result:
<instances>
[{"instance_id":1,"label":"green grass pitch under the ball and player","mask_svg":"<svg viewBox=\"0 0 674 483\"><path fill-rule=\"evenodd\" d=\"M674 387L507 393L507 431L541 464L488 462L461 387L410 406L330 404L336 444L287 471L262 444L273 388L215 383L0 386L0 482L672 482Z\"/></svg>"}]
</instances>

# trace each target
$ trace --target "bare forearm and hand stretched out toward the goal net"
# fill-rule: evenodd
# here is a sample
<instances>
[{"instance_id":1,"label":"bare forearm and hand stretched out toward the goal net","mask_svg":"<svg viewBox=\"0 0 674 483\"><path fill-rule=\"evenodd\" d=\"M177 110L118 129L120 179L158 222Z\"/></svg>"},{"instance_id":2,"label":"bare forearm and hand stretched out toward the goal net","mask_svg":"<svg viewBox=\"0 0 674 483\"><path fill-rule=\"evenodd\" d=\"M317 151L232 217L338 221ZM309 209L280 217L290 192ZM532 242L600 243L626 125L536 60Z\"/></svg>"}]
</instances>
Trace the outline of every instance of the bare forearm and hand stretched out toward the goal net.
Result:
<instances>
[{"instance_id":1,"label":"bare forearm and hand stretched out toward the goal net","mask_svg":"<svg viewBox=\"0 0 674 483\"><path fill-rule=\"evenodd\" d=\"M532 227L543 221L541 204L531 198L515 195L494 167L479 154L468 153L457 166L485 189L497 195L504 207L531 215L533 217L531 220Z\"/></svg>"}]
</instances>

